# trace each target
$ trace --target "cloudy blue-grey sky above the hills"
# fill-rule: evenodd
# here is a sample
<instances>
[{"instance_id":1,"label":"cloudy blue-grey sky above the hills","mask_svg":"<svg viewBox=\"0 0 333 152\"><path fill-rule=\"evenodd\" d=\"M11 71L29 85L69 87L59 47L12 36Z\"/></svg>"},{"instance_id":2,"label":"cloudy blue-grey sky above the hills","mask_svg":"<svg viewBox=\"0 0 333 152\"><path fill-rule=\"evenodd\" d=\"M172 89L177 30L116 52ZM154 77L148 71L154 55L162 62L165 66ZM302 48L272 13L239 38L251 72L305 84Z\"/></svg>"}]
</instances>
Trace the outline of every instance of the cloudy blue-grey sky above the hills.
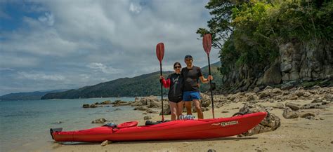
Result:
<instances>
[{"instance_id":1,"label":"cloudy blue-grey sky above the hills","mask_svg":"<svg viewBox=\"0 0 333 152\"><path fill-rule=\"evenodd\" d=\"M198 28L208 0L0 0L0 95L76 89L159 71L192 55L208 64ZM210 54L218 62L218 50Z\"/></svg>"}]
</instances>

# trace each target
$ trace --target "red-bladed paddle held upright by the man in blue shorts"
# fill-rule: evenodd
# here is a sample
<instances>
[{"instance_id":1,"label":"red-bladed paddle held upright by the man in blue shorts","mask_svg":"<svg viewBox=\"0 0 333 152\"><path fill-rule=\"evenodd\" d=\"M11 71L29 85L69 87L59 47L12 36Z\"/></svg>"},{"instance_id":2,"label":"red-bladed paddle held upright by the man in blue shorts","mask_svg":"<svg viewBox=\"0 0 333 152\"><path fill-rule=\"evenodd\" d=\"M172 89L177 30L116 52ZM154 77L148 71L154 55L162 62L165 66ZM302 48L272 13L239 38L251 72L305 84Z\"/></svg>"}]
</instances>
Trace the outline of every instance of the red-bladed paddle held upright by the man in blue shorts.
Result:
<instances>
[{"instance_id":1,"label":"red-bladed paddle held upright by the man in blue shorts","mask_svg":"<svg viewBox=\"0 0 333 152\"><path fill-rule=\"evenodd\" d=\"M209 53L211 52L211 34L204 34L204 39L202 39L202 46L204 46L204 52L207 53L209 75L211 75L211 64L210 64L210 60L209 60ZM209 83L211 85L211 80L209 81ZM213 118L215 118L212 86L211 86L210 90L211 90L211 112L213 113Z\"/></svg>"}]
</instances>

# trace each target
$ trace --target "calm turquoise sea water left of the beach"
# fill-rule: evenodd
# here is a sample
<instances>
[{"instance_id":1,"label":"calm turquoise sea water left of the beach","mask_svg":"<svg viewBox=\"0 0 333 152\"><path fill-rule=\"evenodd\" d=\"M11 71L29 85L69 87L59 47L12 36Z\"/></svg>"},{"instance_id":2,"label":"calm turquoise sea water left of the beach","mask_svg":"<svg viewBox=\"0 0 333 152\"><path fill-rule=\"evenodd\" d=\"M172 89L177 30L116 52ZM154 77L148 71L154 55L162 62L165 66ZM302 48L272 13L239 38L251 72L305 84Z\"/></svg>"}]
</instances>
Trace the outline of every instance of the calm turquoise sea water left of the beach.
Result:
<instances>
[{"instance_id":1,"label":"calm turquoise sea water left of the beach","mask_svg":"<svg viewBox=\"0 0 333 152\"><path fill-rule=\"evenodd\" d=\"M48 151L54 144L49 133L51 127L83 130L99 126L100 124L91 123L97 118L105 118L119 124L143 117L142 111L133 111L132 106L82 108L83 104L117 99L134 100L133 97L121 97L1 101L0 151ZM117 108L121 110L115 111ZM58 124L59 121L63 123Z\"/></svg>"}]
</instances>

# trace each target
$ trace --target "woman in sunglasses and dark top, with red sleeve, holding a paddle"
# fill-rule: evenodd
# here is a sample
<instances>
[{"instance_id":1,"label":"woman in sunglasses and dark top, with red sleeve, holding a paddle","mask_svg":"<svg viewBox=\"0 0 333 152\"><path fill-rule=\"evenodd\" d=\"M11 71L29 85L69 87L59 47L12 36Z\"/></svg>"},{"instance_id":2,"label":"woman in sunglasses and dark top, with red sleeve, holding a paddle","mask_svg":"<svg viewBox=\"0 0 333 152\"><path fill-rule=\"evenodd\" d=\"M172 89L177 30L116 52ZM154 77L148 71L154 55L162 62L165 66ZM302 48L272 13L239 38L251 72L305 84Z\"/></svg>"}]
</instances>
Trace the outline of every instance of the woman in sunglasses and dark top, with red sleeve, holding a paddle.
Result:
<instances>
[{"instance_id":1,"label":"woman in sunglasses and dark top, with red sleeve, holding a paddle","mask_svg":"<svg viewBox=\"0 0 333 152\"><path fill-rule=\"evenodd\" d=\"M169 88L168 99L171 110L171 120L179 120L183 112L183 76L181 76L181 64L174 63L174 74L170 74L166 80L160 76L164 88Z\"/></svg>"}]
</instances>

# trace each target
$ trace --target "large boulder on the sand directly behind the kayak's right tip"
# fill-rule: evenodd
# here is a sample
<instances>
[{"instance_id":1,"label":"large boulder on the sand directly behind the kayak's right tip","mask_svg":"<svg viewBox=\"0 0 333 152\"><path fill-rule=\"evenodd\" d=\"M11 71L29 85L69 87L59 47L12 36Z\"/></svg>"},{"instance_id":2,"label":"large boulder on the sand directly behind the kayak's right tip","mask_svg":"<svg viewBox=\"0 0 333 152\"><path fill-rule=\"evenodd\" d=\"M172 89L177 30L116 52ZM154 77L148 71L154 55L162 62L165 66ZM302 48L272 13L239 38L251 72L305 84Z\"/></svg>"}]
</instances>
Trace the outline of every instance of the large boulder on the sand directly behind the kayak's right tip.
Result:
<instances>
[{"instance_id":1,"label":"large boulder on the sand directly behind the kayak's right tip","mask_svg":"<svg viewBox=\"0 0 333 152\"><path fill-rule=\"evenodd\" d=\"M255 112L268 112L265 110L263 106L260 106L259 104L252 104L252 103L246 103L240 109L239 112L241 113L255 113ZM253 134L259 134L262 132L270 132L273 130L278 129L280 127L280 118L278 116L275 116L273 113L268 113L266 118L264 118L259 125L256 125L256 127L252 128L251 130L244 132L242 134L239 134L239 137L244 137L244 136L250 136Z\"/></svg>"}]
</instances>

